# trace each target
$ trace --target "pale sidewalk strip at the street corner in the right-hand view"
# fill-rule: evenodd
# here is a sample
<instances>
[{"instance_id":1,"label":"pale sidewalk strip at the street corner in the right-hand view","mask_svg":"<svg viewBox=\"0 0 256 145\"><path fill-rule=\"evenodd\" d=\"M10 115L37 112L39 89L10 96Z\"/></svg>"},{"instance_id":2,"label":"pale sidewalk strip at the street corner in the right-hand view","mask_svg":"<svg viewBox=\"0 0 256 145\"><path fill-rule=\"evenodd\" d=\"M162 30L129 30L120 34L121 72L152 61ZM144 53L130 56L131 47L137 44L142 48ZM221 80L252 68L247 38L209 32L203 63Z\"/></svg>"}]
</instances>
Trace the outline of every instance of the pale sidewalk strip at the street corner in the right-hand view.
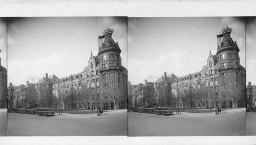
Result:
<instances>
[{"instance_id":1,"label":"pale sidewalk strip at the street corner in the right-hand view","mask_svg":"<svg viewBox=\"0 0 256 145\"><path fill-rule=\"evenodd\" d=\"M230 109L222 111L219 115L225 115L230 113L237 113L237 112L245 112L245 108L238 108L238 109ZM181 114L176 114L177 116L190 116L190 117L209 117L209 116L215 116L215 112L211 113L188 113L188 112L181 112Z\"/></svg>"}]
</instances>

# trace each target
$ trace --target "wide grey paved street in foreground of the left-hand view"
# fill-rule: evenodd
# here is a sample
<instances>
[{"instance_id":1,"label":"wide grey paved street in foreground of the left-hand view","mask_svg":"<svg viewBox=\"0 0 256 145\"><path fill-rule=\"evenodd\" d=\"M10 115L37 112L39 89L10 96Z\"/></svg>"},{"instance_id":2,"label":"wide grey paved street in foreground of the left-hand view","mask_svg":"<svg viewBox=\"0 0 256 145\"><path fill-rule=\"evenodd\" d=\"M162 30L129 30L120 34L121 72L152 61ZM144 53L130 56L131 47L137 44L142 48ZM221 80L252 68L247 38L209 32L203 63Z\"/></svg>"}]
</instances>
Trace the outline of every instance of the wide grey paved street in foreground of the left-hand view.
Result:
<instances>
[{"instance_id":1,"label":"wide grey paved street in foreground of the left-hand view","mask_svg":"<svg viewBox=\"0 0 256 145\"><path fill-rule=\"evenodd\" d=\"M118 112L119 110L117 110ZM85 117L36 116L9 113L8 136L108 136L127 135L127 112Z\"/></svg>"}]
</instances>

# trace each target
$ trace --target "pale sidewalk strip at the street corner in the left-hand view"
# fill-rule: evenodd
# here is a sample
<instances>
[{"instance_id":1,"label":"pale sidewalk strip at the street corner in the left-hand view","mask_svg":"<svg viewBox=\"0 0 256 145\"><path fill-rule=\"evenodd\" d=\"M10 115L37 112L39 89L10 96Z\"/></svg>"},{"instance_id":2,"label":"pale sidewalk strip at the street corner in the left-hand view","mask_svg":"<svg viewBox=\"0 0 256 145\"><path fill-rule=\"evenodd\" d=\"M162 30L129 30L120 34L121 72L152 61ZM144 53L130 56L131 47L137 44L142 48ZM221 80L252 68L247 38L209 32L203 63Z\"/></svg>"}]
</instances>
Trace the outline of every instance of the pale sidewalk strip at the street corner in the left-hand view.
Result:
<instances>
[{"instance_id":1,"label":"pale sidewalk strip at the street corner in the left-hand view","mask_svg":"<svg viewBox=\"0 0 256 145\"><path fill-rule=\"evenodd\" d=\"M127 109L113 110L113 111L108 111L108 112L105 112L105 113L104 113L104 110L103 110L103 114L100 114L100 116L97 116L96 113L94 113L94 114L69 114L69 113L63 113L62 115L57 115L57 113L55 113L55 117L92 118L92 117L101 117L101 116L108 116L108 115L113 115L113 114L119 114L119 113L123 113L123 112L127 112Z\"/></svg>"}]
</instances>

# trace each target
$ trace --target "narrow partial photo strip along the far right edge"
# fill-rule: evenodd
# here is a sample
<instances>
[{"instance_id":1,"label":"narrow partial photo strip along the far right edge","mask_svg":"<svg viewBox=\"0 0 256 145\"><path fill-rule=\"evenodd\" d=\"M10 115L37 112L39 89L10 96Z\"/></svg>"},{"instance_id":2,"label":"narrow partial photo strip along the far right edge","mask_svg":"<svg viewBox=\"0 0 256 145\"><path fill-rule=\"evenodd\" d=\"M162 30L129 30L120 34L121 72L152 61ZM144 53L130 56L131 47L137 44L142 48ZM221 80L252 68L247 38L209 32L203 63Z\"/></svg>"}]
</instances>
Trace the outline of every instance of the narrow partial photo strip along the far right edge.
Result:
<instances>
[{"instance_id":1,"label":"narrow partial photo strip along the far right edge","mask_svg":"<svg viewBox=\"0 0 256 145\"><path fill-rule=\"evenodd\" d=\"M246 19L246 135L256 135L256 17Z\"/></svg>"}]
</instances>

